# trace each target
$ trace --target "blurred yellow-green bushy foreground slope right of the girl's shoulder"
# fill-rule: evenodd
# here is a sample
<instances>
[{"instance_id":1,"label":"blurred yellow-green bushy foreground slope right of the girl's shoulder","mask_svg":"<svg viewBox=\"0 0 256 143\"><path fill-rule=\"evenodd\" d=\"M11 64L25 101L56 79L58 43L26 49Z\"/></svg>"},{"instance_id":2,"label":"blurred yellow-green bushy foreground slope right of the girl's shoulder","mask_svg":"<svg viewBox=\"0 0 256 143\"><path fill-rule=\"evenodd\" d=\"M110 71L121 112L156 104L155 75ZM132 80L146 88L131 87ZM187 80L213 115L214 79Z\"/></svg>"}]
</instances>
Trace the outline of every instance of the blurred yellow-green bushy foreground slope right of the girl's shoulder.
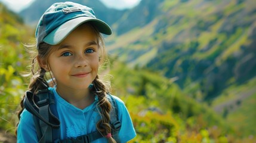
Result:
<instances>
[{"instance_id":1,"label":"blurred yellow-green bushy foreground slope right of the girl's shoulder","mask_svg":"<svg viewBox=\"0 0 256 143\"><path fill-rule=\"evenodd\" d=\"M254 136L249 136L253 127L236 126L236 121L224 119L208 105L199 104L184 94L173 80L159 73L131 69L115 60L109 69L112 76L106 78L113 86L112 94L125 101L138 133L134 142L256 141ZM249 129L248 136L240 131L241 127Z\"/></svg>"}]
</instances>

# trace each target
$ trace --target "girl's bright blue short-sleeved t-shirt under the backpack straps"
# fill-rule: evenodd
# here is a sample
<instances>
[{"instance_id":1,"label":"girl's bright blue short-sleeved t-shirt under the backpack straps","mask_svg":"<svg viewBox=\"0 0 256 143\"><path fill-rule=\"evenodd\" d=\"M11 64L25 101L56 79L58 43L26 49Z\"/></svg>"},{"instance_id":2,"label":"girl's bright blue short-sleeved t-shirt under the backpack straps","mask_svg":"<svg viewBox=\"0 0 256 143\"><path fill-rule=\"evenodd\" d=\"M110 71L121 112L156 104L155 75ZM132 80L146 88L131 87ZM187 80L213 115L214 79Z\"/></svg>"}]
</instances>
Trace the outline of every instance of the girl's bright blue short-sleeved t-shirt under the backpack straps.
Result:
<instances>
[{"instance_id":1,"label":"girl's bright blue short-sleeved t-shirt under the backpack straps","mask_svg":"<svg viewBox=\"0 0 256 143\"><path fill-rule=\"evenodd\" d=\"M91 105L81 110L61 98L55 88L49 89L53 91L56 101L55 105L58 112L58 119L60 120L60 139L76 138L77 136L86 135L97 130L96 124L100 120L100 115L96 108L98 102L97 96L95 96L95 101ZM121 142L127 142L136 136L135 129L124 102L118 97L113 97L116 100L118 119L121 122L119 139ZM38 142L33 116L26 109L24 109L20 116L20 123L17 129L17 142ZM100 138L93 142L107 142L107 139Z\"/></svg>"}]
</instances>

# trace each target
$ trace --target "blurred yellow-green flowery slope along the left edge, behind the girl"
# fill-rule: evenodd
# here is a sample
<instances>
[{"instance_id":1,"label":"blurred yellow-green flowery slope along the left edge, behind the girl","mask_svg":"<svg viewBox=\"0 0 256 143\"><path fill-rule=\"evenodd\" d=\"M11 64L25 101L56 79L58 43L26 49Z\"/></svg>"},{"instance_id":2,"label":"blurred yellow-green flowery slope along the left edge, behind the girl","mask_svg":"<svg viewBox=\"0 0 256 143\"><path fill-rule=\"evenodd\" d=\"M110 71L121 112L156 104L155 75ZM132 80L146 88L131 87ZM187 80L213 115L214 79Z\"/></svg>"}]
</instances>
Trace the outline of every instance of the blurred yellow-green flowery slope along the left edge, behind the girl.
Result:
<instances>
[{"instance_id":1,"label":"blurred yellow-green flowery slope along the left edge, behind the girl","mask_svg":"<svg viewBox=\"0 0 256 143\"><path fill-rule=\"evenodd\" d=\"M28 66L23 43L29 41L31 32L20 17L0 3L0 130L11 133L17 123L20 96L26 89L27 80L20 72Z\"/></svg>"}]
</instances>

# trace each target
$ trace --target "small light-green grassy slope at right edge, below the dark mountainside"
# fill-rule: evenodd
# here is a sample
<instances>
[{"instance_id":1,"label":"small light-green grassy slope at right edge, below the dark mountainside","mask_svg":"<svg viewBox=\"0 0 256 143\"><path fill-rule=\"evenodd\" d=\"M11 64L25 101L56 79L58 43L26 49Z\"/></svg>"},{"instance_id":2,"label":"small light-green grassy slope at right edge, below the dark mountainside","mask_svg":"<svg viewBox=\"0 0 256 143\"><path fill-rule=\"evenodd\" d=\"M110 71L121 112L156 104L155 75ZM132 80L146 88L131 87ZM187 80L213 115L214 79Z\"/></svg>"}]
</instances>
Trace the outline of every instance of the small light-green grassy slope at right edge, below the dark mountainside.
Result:
<instances>
[{"instance_id":1,"label":"small light-green grassy slope at right edge, below the dark mountainside","mask_svg":"<svg viewBox=\"0 0 256 143\"><path fill-rule=\"evenodd\" d=\"M225 89L212 102L212 108L242 135L255 135L256 130L256 78L243 85L233 85Z\"/></svg>"}]
</instances>

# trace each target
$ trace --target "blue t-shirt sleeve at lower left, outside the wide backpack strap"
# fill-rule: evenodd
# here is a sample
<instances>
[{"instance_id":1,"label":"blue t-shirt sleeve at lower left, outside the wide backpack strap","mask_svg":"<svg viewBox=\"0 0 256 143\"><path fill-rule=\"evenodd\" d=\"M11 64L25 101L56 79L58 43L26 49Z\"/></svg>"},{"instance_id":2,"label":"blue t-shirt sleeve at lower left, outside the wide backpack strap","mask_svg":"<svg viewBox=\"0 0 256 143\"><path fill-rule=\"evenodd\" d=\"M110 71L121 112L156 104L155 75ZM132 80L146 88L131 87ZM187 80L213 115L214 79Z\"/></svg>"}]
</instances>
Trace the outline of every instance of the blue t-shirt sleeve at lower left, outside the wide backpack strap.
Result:
<instances>
[{"instance_id":1,"label":"blue t-shirt sleeve at lower left, outside the wide backpack strap","mask_svg":"<svg viewBox=\"0 0 256 143\"><path fill-rule=\"evenodd\" d=\"M20 123L17 127L17 142L38 142L38 137L33 121L33 115L26 109L20 115Z\"/></svg>"}]
</instances>

